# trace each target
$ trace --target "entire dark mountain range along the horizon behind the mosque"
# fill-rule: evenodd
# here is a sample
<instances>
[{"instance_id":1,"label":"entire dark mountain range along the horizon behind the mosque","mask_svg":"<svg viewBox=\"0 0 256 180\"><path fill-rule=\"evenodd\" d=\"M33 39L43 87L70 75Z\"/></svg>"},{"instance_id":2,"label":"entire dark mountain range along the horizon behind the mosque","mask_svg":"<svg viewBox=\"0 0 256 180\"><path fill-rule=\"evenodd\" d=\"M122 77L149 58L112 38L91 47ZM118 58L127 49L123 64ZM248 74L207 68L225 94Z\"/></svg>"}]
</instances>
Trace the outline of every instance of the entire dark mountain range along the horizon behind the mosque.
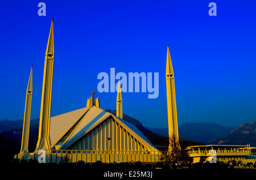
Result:
<instances>
[{"instance_id":1,"label":"entire dark mountain range along the horizon behind the mosque","mask_svg":"<svg viewBox=\"0 0 256 180\"><path fill-rule=\"evenodd\" d=\"M107 109L106 112L113 113L115 110ZM123 119L135 125L150 142L156 146L167 145L168 128L144 127L137 119L123 114ZM0 148L11 144L13 148L19 149L22 139L23 121L0 121ZM39 118L30 122L30 137L28 149L35 149L38 140ZM5 131L4 133L2 133ZM256 122L250 121L239 127L225 127L217 123L192 123L186 122L179 127L179 136L184 146L203 144L251 144L256 147Z\"/></svg>"}]
</instances>

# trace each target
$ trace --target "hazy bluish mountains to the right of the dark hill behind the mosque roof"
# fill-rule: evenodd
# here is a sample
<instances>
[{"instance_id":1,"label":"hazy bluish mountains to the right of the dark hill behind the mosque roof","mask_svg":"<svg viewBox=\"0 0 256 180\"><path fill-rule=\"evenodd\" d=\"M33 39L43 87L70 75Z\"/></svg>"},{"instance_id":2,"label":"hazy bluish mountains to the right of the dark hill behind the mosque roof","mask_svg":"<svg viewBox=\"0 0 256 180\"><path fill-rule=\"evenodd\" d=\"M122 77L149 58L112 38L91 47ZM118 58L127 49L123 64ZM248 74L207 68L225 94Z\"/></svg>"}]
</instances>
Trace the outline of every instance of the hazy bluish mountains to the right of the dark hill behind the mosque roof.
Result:
<instances>
[{"instance_id":1,"label":"hazy bluish mountains to the right of the dark hill behind the mosque roof","mask_svg":"<svg viewBox=\"0 0 256 180\"><path fill-rule=\"evenodd\" d=\"M148 130L168 136L168 128L150 128ZM244 123L239 127L225 127L217 123L186 122L179 127L181 139L204 144L246 145L256 147L256 121Z\"/></svg>"}]
</instances>

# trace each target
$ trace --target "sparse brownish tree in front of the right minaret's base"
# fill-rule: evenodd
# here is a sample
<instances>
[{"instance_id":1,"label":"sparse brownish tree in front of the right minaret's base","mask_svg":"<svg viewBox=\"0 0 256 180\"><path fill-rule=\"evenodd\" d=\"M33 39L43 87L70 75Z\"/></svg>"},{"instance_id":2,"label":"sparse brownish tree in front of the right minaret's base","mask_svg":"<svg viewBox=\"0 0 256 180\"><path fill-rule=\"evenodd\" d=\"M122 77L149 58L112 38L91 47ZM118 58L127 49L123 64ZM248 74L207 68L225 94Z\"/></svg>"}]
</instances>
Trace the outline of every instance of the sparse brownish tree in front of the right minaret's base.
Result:
<instances>
[{"instance_id":1,"label":"sparse brownish tree in front of the right minaret's base","mask_svg":"<svg viewBox=\"0 0 256 180\"><path fill-rule=\"evenodd\" d=\"M179 139L175 134L168 138L168 149L165 148L160 152L160 160L168 162L170 165L177 162L187 162L189 158L187 151L181 149Z\"/></svg>"}]
</instances>

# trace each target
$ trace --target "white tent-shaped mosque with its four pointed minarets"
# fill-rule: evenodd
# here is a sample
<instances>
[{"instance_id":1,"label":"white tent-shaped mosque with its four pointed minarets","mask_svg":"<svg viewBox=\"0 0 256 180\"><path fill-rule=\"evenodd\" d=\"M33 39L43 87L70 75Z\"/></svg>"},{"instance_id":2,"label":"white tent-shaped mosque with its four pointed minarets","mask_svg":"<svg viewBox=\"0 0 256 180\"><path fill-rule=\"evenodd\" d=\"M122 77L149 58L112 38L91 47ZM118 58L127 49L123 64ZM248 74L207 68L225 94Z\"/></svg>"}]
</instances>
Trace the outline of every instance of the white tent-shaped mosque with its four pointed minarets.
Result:
<instances>
[{"instance_id":1,"label":"white tent-shaped mosque with its four pointed minarets","mask_svg":"<svg viewBox=\"0 0 256 180\"><path fill-rule=\"evenodd\" d=\"M38 143L28 152L32 99L32 67L28 80L20 153L14 158L36 160L45 153L46 162L158 162L160 152L133 124L122 119L122 90L118 82L117 114L100 108L99 98L88 98L86 107L51 117L54 61L53 19L49 32L42 88ZM169 135L178 137L174 71L167 46L167 109Z\"/></svg>"}]
</instances>

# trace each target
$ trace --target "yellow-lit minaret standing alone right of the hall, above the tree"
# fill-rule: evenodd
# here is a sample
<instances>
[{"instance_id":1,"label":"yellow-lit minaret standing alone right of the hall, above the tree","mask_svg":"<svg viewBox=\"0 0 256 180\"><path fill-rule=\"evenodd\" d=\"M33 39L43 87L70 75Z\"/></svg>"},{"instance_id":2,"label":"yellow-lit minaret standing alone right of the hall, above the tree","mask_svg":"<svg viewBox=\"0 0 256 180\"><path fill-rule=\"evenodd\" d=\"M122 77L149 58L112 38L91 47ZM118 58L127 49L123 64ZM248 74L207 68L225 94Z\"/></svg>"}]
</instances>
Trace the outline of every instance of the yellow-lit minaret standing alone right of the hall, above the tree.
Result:
<instances>
[{"instance_id":1,"label":"yellow-lit minaret standing alone right of the hall, above the tree","mask_svg":"<svg viewBox=\"0 0 256 180\"><path fill-rule=\"evenodd\" d=\"M166 61L166 88L167 88L167 110L168 110L168 129L169 136L175 135L179 138L177 126L177 109L174 85L174 69L172 68L171 55L167 44L167 61Z\"/></svg>"}]
</instances>

